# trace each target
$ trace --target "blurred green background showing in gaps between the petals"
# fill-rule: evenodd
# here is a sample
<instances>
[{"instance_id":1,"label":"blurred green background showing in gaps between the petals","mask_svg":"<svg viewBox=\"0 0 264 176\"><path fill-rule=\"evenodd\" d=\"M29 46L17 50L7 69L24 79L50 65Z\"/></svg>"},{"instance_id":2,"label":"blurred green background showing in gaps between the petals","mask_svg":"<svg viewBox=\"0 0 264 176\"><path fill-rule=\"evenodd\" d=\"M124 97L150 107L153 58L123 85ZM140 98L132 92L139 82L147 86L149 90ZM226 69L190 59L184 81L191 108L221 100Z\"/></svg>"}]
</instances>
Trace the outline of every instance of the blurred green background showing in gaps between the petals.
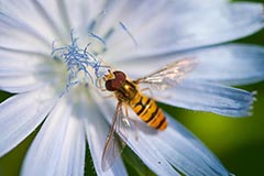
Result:
<instances>
[{"instance_id":1,"label":"blurred green background showing in gaps between the petals","mask_svg":"<svg viewBox=\"0 0 264 176\"><path fill-rule=\"evenodd\" d=\"M258 2L264 2L264 0ZM237 42L264 46L264 30ZM178 121L195 133L230 172L238 176L264 175L264 82L241 88L249 91L257 91L257 101L254 103L253 116L251 118L232 119L178 108L163 108L174 114ZM11 95L0 91L0 102L9 96ZM35 133L0 158L0 176L19 175L23 157ZM131 151L125 150L124 154L131 175L139 175L139 173L142 175L152 175L139 158L131 154ZM128 162L128 157L130 161L135 162ZM89 160L90 156L87 154L86 173L87 175L96 175ZM134 164L136 164L138 168L131 167Z\"/></svg>"}]
</instances>

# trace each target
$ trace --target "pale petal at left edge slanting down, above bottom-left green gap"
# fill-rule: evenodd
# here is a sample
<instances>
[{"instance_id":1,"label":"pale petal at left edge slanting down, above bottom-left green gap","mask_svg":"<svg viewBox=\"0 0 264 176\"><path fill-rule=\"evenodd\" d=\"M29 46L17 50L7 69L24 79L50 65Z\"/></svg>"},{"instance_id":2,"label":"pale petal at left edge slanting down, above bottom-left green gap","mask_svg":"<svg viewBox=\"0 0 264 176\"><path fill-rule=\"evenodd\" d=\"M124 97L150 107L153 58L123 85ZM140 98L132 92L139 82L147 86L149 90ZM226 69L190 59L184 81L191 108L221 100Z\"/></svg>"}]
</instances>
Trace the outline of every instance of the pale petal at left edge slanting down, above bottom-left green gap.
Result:
<instances>
[{"instance_id":1,"label":"pale petal at left edge slanting down, above bottom-left green gap","mask_svg":"<svg viewBox=\"0 0 264 176\"><path fill-rule=\"evenodd\" d=\"M13 96L0 105L0 156L16 146L55 105L48 89Z\"/></svg>"}]
</instances>

